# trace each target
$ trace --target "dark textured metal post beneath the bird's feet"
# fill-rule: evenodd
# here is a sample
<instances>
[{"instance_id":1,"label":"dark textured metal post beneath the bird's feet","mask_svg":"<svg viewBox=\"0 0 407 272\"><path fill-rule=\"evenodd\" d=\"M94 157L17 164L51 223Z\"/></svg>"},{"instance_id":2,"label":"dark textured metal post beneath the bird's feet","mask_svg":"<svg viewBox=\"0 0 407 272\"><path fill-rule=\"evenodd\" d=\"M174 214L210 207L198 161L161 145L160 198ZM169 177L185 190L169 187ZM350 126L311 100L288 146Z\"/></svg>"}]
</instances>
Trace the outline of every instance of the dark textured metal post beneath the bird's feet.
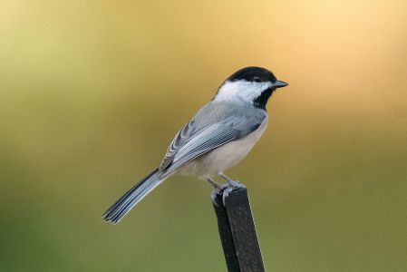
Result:
<instances>
[{"instance_id":1,"label":"dark textured metal post beneath the bird's feet","mask_svg":"<svg viewBox=\"0 0 407 272\"><path fill-rule=\"evenodd\" d=\"M228 272L264 272L266 268L258 245L255 221L247 189L233 190L225 199L217 196L218 229Z\"/></svg>"}]
</instances>

